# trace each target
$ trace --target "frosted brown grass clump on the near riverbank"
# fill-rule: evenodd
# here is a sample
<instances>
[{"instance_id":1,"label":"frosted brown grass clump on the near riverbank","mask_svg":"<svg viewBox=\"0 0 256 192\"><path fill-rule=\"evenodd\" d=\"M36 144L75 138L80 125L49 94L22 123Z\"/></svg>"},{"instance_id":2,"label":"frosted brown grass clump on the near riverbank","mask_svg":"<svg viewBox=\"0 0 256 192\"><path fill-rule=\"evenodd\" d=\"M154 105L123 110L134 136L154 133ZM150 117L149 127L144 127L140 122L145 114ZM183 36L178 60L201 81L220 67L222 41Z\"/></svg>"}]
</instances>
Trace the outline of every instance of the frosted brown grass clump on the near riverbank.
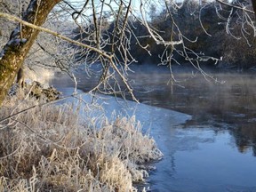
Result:
<instances>
[{"instance_id":1,"label":"frosted brown grass clump on the near riverbank","mask_svg":"<svg viewBox=\"0 0 256 192\"><path fill-rule=\"evenodd\" d=\"M10 97L0 119L36 102ZM0 122L0 191L136 191L148 175L139 164L163 156L155 140L134 116L111 122L81 108L38 106Z\"/></svg>"}]
</instances>

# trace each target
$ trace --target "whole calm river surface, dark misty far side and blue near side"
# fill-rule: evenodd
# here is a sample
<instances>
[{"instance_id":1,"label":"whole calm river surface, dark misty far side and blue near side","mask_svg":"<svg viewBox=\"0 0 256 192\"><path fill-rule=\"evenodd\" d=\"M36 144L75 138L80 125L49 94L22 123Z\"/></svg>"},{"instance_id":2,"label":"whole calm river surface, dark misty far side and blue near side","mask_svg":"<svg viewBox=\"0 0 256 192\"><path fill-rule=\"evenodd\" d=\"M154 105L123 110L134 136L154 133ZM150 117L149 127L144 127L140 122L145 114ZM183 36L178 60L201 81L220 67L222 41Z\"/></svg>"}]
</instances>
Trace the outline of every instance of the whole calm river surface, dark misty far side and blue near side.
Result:
<instances>
[{"instance_id":1,"label":"whole calm river surface, dark misty far side and blue near side","mask_svg":"<svg viewBox=\"0 0 256 192\"><path fill-rule=\"evenodd\" d=\"M137 119L151 127L164 152L164 159L148 178L151 191L256 192L254 74L215 71L212 76L225 81L220 84L190 70L177 71L177 82L171 86L166 68L134 70L130 76L135 94L149 106L129 105L137 108ZM84 76L78 78L80 89L92 86L92 80L84 83ZM108 110L125 108L111 103Z\"/></svg>"}]
</instances>

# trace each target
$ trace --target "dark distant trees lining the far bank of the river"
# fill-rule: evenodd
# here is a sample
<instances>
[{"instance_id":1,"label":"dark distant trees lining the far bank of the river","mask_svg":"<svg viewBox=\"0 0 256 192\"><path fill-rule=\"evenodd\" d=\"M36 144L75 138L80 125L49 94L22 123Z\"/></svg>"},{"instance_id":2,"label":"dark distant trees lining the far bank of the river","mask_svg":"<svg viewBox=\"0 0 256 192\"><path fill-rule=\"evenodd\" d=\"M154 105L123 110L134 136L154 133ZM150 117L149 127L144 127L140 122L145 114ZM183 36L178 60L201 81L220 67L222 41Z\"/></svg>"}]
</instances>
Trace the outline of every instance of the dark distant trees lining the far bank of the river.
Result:
<instances>
[{"instance_id":1,"label":"dark distant trees lining the far bank of the river","mask_svg":"<svg viewBox=\"0 0 256 192\"><path fill-rule=\"evenodd\" d=\"M150 18L148 23L156 28L156 31L166 41L170 40L170 36L171 40L179 39L180 33L175 33L175 30L182 31L182 35L186 36L185 48L184 44L179 44L175 50L169 51L172 52L173 59L177 62L184 63L187 57L190 59L194 57L196 60L196 55L205 55L219 60L218 62L216 60L201 62L209 67L232 68L239 71L254 69L256 39L253 30L255 30L255 27L251 26L250 22L244 22L249 17L246 18L242 9L236 8L236 6L246 7L246 1L236 0L231 4L234 4L235 7L225 4L220 6L216 2L203 1L199 3L185 0L179 9L174 9L173 5L170 5L169 8L164 7L161 12L156 12L156 6L152 4L148 10ZM172 17L168 15L168 12L172 12ZM174 20L175 22L173 22ZM104 34L112 36L116 23L108 20L108 12L105 12L103 22L104 25L102 26L104 28L101 28L101 30L105 31ZM136 58L139 64L163 63L163 55L161 54L166 49L164 44L156 44L156 41L148 34L147 28L140 21L133 20L132 16L129 17L129 22L132 26L131 31L134 33L130 42L131 60ZM176 26L177 24L179 25ZM87 26L84 27L84 31L92 34L93 28ZM76 28L74 33L77 33L76 40L87 39L88 41L86 33L81 35L81 28ZM142 47L148 47L148 49L141 48L141 45ZM110 52L111 46L106 44L104 49L106 52ZM150 50L150 53L148 50ZM120 60L121 58L120 56Z\"/></svg>"}]
</instances>

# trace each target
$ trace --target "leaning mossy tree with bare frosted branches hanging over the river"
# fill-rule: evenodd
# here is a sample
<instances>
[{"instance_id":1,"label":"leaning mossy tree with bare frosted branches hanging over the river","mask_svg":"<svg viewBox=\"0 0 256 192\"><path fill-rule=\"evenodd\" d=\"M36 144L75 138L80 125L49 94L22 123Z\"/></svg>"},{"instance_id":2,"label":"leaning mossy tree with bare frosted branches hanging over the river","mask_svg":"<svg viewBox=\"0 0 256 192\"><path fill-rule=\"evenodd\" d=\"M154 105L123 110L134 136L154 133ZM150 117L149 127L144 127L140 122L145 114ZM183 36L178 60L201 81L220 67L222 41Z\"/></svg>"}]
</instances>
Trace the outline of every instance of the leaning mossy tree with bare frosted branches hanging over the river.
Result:
<instances>
[{"instance_id":1,"label":"leaning mossy tree with bare frosted branches hanging over the river","mask_svg":"<svg viewBox=\"0 0 256 192\"><path fill-rule=\"evenodd\" d=\"M220 0L216 1L220 2L220 4L228 4ZM52 34L69 44L73 44L67 45L66 43L61 43L65 46L67 45L68 49L74 48L76 50L77 46L81 47L82 52L84 52L84 58L86 58L86 63L101 63L102 74L99 79L99 84L97 84L92 90L99 91L100 87L103 87L104 92L113 93L116 92L117 89L117 93L121 93L120 84L111 83L111 81L109 81L110 79L115 82L121 80L126 87L126 91L132 95L133 100L136 100L132 93L132 87L127 79L127 70L129 69L129 65L135 61L130 52L132 37L136 39L138 44L140 44L140 39L134 33L136 28L132 26L132 17L134 20L140 21L141 25L147 29L148 36L150 36L156 44L164 46L164 53L161 58L161 62L164 65L169 65L171 68L173 61L172 52L175 51L180 54L180 56L188 60L195 68L203 73L204 76L207 76L200 68L198 60L209 60L211 57L206 58L204 56L202 58L199 54L193 52L193 50L190 50L186 46L188 38L182 33L182 31L180 31L180 20L174 17L176 12L182 8L183 4L176 3L175 1L170 1L169 3L166 1L163 2L164 5L161 4L161 6L165 6L165 17L169 18L167 20L169 23L167 26L170 26L172 30L172 32L167 35L161 35L161 32L154 28L154 26L150 26L147 15L150 4L148 4L148 1L144 2L142 0L140 1L140 17L138 17L138 13L135 14L134 10L136 9L132 7L132 0L110 2L105 0L100 2L96 2L95 0L86 0L81 2L82 4L72 4L72 1L63 0L31 0L28 4L27 11L23 12L22 20L11 16L10 14L0 12L0 17L20 22L20 25L12 31L12 35L10 36L8 43L5 44L3 51L0 54L0 105L4 100L6 93L10 89L19 68L26 59L30 48L35 43L36 36L39 34L39 31ZM186 2L186 4L188 4L188 1ZM64 14L68 14L72 20L75 21L80 33L87 34L84 36L85 39L83 40L85 44L83 41L77 42L72 37L62 36L60 33L53 32L47 28L40 28L56 4L59 5L54 13L57 15L57 19L60 19L60 16L64 17ZM244 8L243 4L241 6L234 4L228 5L236 9L240 9L243 12L252 12L247 10L246 7ZM255 10L254 1L252 1L252 5ZM109 28L112 27L112 30L106 30L106 26L108 26L106 25L106 17L104 15L106 9L109 12L108 19L112 20L112 24L109 25ZM230 14L229 16L232 15ZM248 17L246 16L244 20L248 21ZM56 23L57 20L54 22ZM249 20L249 22L251 22L249 25L252 25L252 28L255 28L252 21ZM74 46L74 44L76 44L76 46ZM179 44L181 47L177 46ZM39 47L47 52L47 50L44 49L44 46L39 44ZM140 44L140 47L148 51L148 44ZM181 52L178 49L180 49ZM79 50L79 52L81 52L81 50ZM190 57L188 52L192 52L194 56ZM48 53L51 54L51 52ZM197 60L194 60L195 58ZM56 60L56 62L59 62L60 67L62 66L61 60Z\"/></svg>"}]
</instances>

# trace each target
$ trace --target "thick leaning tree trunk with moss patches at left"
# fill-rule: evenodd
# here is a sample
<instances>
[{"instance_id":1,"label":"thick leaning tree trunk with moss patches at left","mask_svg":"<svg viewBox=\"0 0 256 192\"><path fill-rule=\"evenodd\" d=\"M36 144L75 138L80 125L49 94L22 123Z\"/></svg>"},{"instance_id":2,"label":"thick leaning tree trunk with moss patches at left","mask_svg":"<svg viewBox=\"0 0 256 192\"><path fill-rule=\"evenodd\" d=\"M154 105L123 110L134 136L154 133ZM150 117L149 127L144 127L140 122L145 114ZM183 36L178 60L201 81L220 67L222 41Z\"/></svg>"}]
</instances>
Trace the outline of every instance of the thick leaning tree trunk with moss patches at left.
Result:
<instances>
[{"instance_id":1,"label":"thick leaning tree trunk with moss patches at left","mask_svg":"<svg viewBox=\"0 0 256 192\"><path fill-rule=\"evenodd\" d=\"M31 0L23 20L42 26L54 5L61 0ZM15 76L21 68L29 49L36 40L39 31L20 25L12 31L10 40L0 53L0 106L12 86Z\"/></svg>"}]
</instances>

